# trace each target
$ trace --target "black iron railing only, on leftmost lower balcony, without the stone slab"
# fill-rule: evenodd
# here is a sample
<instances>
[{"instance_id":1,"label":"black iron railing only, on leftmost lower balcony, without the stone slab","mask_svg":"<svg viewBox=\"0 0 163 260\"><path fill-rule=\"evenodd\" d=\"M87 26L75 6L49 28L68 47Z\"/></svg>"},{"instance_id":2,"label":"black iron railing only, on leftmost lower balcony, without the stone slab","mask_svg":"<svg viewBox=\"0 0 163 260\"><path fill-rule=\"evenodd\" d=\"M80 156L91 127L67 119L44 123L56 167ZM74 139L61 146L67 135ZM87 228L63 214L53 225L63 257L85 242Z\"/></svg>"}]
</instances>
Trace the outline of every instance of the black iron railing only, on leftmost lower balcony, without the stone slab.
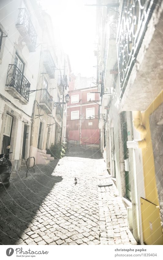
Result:
<instances>
[{"instance_id":1,"label":"black iron railing only, on leftmost lower balcony, without the stone slab","mask_svg":"<svg viewBox=\"0 0 163 260\"><path fill-rule=\"evenodd\" d=\"M29 101L30 83L15 64L9 64L6 86L13 87Z\"/></svg>"}]
</instances>

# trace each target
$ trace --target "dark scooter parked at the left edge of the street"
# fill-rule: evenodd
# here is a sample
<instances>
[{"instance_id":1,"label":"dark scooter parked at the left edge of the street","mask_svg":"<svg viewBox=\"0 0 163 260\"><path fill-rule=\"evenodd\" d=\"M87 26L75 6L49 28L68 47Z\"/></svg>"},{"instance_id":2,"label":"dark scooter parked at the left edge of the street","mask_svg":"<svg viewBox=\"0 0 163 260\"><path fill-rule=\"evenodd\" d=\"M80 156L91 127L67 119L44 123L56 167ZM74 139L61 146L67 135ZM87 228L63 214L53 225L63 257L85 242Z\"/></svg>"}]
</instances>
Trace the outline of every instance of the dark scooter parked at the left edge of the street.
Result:
<instances>
[{"instance_id":1,"label":"dark scooter parked at the left edge of the street","mask_svg":"<svg viewBox=\"0 0 163 260\"><path fill-rule=\"evenodd\" d=\"M7 146L7 149L10 149L11 146ZM12 153L12 152L10 152ZM6 188L9 187L9 179L12 169L12 163L9 160L10 153L2 153L0 154L0 187L4 186Z\"/></svg>"}]
</instances>

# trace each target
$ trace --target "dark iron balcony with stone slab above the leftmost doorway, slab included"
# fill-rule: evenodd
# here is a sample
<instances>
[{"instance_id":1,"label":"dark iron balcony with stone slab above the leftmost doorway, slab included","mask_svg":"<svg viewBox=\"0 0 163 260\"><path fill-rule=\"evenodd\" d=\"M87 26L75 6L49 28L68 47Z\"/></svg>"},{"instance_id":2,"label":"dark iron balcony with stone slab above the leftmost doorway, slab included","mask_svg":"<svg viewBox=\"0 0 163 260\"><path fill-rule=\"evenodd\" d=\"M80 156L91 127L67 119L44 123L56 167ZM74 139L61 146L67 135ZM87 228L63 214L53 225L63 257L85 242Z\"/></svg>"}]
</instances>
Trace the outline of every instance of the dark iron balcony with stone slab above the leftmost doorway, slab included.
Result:
<instances>
[{"instance_id":1,"label":"dark iron balcony with stone slab above the leftmost doorway, slab included","mask_svg":"<svg viewBox=\"0 0 163 260\"><path fill-rule=\"evenodd\" d=\"M28 103L30 83L15 64L9 64L5 90L21 104Z\"/></svg>"}]
</instances>

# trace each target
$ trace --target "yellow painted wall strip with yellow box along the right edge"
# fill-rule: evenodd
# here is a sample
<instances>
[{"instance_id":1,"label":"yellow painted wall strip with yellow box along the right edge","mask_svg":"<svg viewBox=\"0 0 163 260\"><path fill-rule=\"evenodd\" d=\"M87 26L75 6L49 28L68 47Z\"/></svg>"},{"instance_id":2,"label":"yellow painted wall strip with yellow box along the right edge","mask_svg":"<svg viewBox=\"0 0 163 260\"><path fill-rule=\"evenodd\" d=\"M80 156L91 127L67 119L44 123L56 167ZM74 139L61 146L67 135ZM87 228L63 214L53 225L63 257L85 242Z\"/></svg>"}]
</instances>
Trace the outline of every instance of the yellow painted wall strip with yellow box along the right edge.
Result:
<instances>
[{"instance_id":1,"label":"yellow painted wall strip with yellow box along the right edge","mask_svg":"<svg viewBox=\"0 0 163 260\"><path fill-rule=\"evenodd\" d=\"M141 210L143 238L145 243L148 245L163 244L157 183L155 178L154 155L149 121L149 116L154 112L154 110L157 109L157 107L159 107L161 103L163 103L163 91L150 104L146 111L141 113L141 123L147 130L145 135L141 134L142 140L144 138L146 140L146 148L142 149L146 202L141 198ZM153 210L153 208L155 210ZM153 222L148 221L148 218L151 218ZM151 230L150 223L153 223L153 231Z\"/></svg>"}]
</instances>

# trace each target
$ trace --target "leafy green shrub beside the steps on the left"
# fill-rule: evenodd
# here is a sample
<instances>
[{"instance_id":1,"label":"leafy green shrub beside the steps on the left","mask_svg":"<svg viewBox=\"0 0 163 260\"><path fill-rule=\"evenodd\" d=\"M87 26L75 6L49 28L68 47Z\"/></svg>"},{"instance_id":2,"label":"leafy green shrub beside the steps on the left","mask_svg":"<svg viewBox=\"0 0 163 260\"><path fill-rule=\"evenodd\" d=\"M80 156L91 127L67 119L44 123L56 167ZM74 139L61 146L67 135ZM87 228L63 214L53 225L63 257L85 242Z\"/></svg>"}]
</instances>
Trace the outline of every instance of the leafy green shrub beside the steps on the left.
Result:
<instances>
[{"instance_id":1,"label":"leafy green shrub beside the steps on the left","mask_svg":"<svg viewBox=\"0 0 163 260\"><path fill-rule=\"evenodd\" d=\"M50 154L54 157L54 159L61 159L65 156L65 153L67 151L67 143L58 143L55 145L51 145L50 149L47 150L47 154Z\"/></svg>"}]
</instances>

